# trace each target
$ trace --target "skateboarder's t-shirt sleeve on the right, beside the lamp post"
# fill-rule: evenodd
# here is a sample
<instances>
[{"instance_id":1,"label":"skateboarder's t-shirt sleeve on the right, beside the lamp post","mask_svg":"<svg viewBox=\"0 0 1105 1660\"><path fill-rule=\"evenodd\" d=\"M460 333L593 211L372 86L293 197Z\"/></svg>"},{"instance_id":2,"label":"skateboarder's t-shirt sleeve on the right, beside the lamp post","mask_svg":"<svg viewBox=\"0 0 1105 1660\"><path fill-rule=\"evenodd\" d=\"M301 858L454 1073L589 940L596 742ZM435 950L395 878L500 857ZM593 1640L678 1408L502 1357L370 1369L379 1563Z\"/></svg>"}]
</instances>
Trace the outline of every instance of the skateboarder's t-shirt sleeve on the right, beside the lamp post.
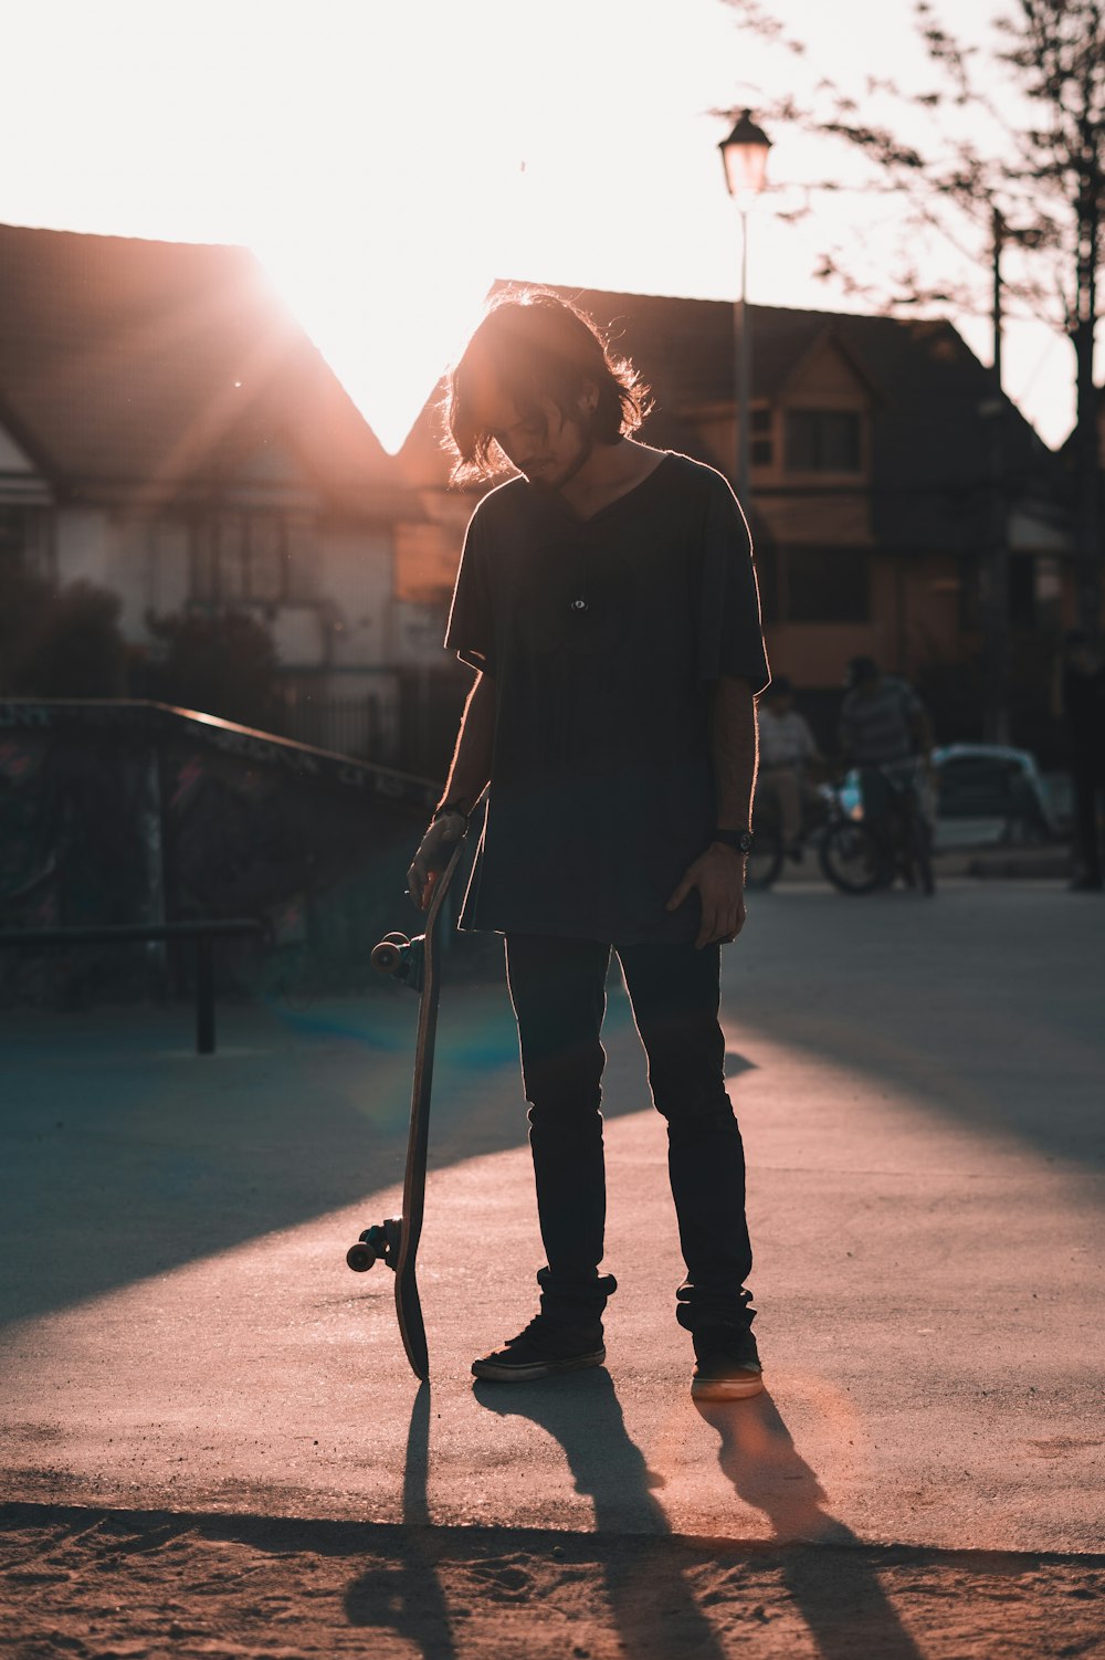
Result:
<instances>
[{"instance_id":1,"label":"skateboarder's t-shirt sleeve on the right, beside the lamp post","mask_svg":"<svg viewBox=\"0 0 1105 1660\"><path fill-rule=\"evenodd\" d=\"M699 593L699 684L738 676L753 692L770 684L752 536L720 473L708 483Z\"/></svg>"}]
</instances>

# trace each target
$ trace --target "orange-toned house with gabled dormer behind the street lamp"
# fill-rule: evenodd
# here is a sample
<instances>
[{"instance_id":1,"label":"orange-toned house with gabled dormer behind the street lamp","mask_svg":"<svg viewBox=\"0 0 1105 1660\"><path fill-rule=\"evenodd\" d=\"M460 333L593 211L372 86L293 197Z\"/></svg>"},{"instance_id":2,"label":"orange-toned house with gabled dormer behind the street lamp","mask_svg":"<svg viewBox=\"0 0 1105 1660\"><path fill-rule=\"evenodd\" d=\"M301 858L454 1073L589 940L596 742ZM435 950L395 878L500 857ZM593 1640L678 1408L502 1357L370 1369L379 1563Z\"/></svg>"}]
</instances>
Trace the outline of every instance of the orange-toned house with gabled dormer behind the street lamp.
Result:
<instances>
[{"instance_id":1,"label":"orange-toned house with gabled dormer behind the street lamp","mask_svg":"<svg viewBox=\"0 0 1105 1660\"><path fill-rule=\"evenodd\" d=\"M561 292L652 387L649 442L733 476L733 307ZM995 538L1009 551L1010 621L1059 629L1070 578L1055 458L995 400L949 322L752 305L748 330L765 631L808 706L838 699L859 652L906 676L977 652Z\"/></svg>"}]
</instances>

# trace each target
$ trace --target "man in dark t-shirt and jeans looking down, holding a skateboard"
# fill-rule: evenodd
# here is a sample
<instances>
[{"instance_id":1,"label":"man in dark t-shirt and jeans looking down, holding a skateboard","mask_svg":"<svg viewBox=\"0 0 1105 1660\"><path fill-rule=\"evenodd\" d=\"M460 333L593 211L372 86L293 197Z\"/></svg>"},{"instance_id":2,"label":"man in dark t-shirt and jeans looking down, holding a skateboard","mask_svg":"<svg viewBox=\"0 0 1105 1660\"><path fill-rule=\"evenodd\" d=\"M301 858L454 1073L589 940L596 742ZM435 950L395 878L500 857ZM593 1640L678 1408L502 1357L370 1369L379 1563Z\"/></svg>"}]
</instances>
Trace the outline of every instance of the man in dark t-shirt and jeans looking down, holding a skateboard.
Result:
<instances>
[{"instance_id":1,"label":"man in dark t-shirt and jeans looking down, holding a skateboard","mask_svg":"<svg viewBox=\"0 0 1105 1660\"><path fill-rule=\"evenodd\" d=\"M496 304L451 374L455 478L514 476L465 538L446 646L478 677L410 890L425 910L488 788L460 926L506 936L548 1263L538 1316L475 1374L606 1358L599 1033L614 950L669 1125L692 1389L732 1399L762 1378L718 971L745 921L768 671L740 508L712 468L632 438L644 413L632 365L551 294Z\"/></svg>"}]
</instances>

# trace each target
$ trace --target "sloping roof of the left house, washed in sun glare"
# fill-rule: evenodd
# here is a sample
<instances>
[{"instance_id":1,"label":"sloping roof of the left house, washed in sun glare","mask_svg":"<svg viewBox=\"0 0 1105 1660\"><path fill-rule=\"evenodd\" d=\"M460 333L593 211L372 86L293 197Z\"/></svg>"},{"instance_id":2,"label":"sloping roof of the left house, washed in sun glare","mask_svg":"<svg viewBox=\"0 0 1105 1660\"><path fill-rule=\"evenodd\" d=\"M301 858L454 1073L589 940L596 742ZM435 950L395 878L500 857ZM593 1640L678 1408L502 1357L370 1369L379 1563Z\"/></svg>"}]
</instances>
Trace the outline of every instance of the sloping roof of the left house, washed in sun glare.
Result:
<instances>
[{"instance_id":1,"label":"sloping roof of the left house, washed in sun glare","mask_svg":"<svg viewBox=\"0 0 1105 1660\"><path fill-rule=\"evenodd\" d=\"M375 433L244 247L0 226L0 420L73 496L211 485L265 447L387 511Z\"/></svg>"}]
</instances>

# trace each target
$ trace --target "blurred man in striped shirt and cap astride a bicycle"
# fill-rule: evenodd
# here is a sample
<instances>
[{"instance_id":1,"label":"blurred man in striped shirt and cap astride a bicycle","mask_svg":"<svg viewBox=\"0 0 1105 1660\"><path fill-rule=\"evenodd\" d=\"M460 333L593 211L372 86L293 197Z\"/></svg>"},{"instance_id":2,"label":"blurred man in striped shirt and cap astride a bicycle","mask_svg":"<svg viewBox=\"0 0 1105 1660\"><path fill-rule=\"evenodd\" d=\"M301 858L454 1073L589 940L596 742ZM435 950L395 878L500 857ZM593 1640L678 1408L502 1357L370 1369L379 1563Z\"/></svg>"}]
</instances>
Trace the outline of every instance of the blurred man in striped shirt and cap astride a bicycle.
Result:
<instances>
[{"instance_id":1,"label":"blurred man in striped shirt and cap astride a bicycle","mask_svg":"<svg viewBox=\"0 0 1105 1660\"><path fill-rule=\"evenodd\" d=\"M863 822L871 830L886 876L893 880L894 790L883 769L909 764L914 755L922 755L927 762L932 754L932 727L913 687L884 676L874 657L853 657L845 687L840 747L845 760L859 769Z\"/></svg>"}]
</instances>

